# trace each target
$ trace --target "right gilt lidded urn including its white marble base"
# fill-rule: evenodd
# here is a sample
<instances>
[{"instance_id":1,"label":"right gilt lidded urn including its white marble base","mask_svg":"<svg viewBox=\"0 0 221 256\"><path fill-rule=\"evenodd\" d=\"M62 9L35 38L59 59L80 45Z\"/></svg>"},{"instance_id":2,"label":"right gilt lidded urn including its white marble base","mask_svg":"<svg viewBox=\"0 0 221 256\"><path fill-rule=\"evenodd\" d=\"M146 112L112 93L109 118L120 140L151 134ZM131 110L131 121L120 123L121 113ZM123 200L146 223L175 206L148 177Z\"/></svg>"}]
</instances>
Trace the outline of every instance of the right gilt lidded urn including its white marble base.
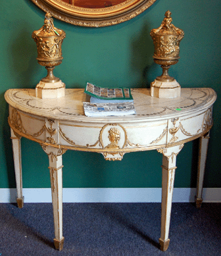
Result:
<instances>
[{"instance_id":1,"label":"right gilt lidded urn including its white marble base","mask_svg":"<svg viewBox=\"0 0 221 256\"><path fill-rule=\"evenodd\" d=\"M151 83L151 96L174 98L180 96L180 84L169 76L168 69L178 63L180 59L180 41L184 38L184 31L171 24L170 11L159 28L151 30L151 37L155 45L154 61L162 67L162 75Z\"/></svg>"}]
</instances>

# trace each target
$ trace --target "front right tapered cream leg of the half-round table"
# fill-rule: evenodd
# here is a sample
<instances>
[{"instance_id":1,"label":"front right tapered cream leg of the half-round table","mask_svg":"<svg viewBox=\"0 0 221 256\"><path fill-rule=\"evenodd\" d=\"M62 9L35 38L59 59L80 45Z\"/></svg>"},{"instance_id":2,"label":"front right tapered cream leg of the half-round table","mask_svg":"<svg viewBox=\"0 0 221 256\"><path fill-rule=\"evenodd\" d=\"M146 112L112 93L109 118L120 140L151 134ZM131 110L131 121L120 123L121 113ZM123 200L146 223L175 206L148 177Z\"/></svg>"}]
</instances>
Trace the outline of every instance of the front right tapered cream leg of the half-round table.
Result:
<instances>
[{"instance_id":1,"label":"front right tapered cream leg of the half-round table","mask_svg":"<svg viewBox=\"0 0 221 256\"><path fill-rule=\"evenodd\" d=\"M184 145L158 150L162 157L162 203L161 203L161 235L159 239L161 251L168 249L170 239L170 214L172 207L172 193L176 170L176 156Z\"/></svg>"}]
</instances>

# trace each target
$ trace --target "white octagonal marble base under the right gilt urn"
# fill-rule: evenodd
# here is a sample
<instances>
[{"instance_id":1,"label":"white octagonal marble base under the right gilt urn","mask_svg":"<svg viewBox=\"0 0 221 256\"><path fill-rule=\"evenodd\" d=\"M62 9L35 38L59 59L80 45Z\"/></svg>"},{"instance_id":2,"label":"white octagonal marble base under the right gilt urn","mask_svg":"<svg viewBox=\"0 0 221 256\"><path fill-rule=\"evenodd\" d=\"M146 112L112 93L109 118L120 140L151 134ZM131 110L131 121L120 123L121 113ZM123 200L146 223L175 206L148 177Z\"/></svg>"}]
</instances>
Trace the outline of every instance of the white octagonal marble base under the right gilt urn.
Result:
<instances>
[{"instance_id":1,"label":"white octagonal marble base under the right gilt urn","mask_svg":"<svg viewBox=\"0 0 221 256\"><path fill-rule=\"evenodd\" d=\"M154 80L151 83L151 96L158 98L176 98L180 97L180 84L174 79L172 82L160 82Z\"/></svg>"}]
</instances>

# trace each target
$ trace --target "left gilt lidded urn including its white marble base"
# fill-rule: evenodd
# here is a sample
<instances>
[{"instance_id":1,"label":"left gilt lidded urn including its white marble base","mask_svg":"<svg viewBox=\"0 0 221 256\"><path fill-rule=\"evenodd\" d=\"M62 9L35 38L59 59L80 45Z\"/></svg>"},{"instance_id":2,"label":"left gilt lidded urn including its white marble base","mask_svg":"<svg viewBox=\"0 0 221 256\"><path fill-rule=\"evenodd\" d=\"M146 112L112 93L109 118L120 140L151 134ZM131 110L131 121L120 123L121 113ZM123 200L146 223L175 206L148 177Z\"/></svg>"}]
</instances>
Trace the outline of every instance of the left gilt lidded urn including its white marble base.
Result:
<instances>
[{"instance_id":1,"label":"left gilt lidded urn including its white marble base","mask_svg":"<svg viewBox=\"0 0 221 256\"><path fill-rule=\"evenodd\" d=\"M61 44L65 32L55 28L50 13L45 14L43 26L32 33L37 44L37 62L47 69L47 76L36 86L36 97L64 97L65 84L53 75L53 69L62 63Z\"/></svg>"}]
</instances>

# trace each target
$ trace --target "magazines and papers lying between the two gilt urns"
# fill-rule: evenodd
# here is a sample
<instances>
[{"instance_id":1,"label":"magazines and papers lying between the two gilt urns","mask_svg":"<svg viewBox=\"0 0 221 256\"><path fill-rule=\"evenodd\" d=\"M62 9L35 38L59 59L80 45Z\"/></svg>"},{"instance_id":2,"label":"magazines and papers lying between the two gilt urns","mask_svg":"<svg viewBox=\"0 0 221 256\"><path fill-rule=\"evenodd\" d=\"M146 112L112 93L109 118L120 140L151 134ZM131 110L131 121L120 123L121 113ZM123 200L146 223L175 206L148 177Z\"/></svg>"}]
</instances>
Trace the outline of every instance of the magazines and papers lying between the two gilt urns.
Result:
<instances>
[{"instance_id":1,"label":"magazines and papers lying between the two gilt urns","mask_svg":"<svg viewBox=\"0 0 221 256\"><path fill-rule=\"evenodd\" d=\"M91 96L84 102L86 116L135 115L134 99L130 88L101 88L87 83L84 91Z\"/></svg>"}]
</instances>

